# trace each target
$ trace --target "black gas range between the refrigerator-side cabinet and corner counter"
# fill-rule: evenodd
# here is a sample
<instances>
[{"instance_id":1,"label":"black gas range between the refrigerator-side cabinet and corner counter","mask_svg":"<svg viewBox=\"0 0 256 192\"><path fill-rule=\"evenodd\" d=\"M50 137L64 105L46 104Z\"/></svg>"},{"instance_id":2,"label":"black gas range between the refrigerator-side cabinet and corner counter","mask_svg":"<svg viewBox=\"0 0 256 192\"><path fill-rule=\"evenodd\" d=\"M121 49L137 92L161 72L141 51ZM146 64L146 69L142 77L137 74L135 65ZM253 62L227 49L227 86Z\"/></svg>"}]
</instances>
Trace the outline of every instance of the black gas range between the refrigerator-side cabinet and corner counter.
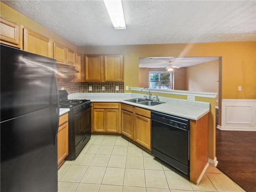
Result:
<instances>
[{"instance_id":1,"label":"black gas range between the refrigerator-side cabinet and corner counter","mask_svg":"<svg viewBox=\"0 0 256 192\"><path fill-rule=\"evenodd\" d=\"M91 101L68 99L66 90L59 90L60 108L69 108L68 112L68 156L65 160L74 160L80 154L91 137Z\"/></svg>"}]
</instances>

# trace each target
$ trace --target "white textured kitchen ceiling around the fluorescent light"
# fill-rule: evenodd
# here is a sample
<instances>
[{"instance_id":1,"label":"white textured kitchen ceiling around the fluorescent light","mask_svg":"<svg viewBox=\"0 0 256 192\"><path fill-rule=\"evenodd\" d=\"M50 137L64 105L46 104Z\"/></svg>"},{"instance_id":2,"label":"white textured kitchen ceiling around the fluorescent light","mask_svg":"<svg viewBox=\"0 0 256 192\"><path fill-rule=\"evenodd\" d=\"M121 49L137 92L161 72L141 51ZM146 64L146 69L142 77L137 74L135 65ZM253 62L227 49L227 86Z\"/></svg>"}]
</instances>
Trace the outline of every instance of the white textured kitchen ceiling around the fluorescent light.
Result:
<instances>
[{"instance_id":1,"label":"white textured kitchen ceiling around the fluorescent light","mask_svg":"<svg viewBox=\"0 0 256 192\"><path fill-rule=\"evenodd\" d=\"M77 46L256 40L256 1L123 0L126 30L103 1L2 1Z\"/></svg>"}]
</instances>

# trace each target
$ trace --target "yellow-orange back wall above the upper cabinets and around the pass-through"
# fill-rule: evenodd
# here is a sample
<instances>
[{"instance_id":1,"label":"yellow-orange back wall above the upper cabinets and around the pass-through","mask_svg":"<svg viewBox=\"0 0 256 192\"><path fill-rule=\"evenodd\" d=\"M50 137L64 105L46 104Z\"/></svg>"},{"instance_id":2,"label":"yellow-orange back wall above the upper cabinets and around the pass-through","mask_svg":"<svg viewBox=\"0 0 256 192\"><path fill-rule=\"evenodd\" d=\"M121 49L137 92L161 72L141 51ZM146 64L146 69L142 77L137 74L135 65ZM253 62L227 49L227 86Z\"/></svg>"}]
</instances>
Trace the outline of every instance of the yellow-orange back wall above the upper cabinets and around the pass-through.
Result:
<instances>
[{"instance_id":1,"label":"yellow-orange back wall above the upper cabinets and around the pass-through","mask_svg":"<svg viewBox=\"0 0 256 192\"><path fill-rule=\"evenodd\" d=\"M140 57L222 56L222 99L256 98L256 42L79 47L83 54L123 54L124 84L138 87ZM242 91L238 91L242 86Z\"/></svg>"}]
</instances>

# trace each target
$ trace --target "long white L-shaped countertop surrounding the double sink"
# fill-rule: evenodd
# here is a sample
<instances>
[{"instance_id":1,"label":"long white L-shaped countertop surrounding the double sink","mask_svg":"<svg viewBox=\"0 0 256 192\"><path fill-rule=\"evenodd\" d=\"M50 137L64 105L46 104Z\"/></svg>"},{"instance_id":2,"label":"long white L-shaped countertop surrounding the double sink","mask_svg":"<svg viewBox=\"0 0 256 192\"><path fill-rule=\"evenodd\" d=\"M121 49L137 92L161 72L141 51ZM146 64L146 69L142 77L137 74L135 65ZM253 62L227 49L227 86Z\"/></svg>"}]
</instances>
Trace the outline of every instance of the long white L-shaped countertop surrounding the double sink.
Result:
<instances>
[{"instance_id":1,"label":"long white L-shaped countertop surrounding the double sink","mask_svg":"<svg viewBox=\"0 0 256 192\"><path fill-rule=\"evenodd\" d=\"M210 112L210 103L208 102L198 102L160 96L160 101L166 103L156 106L145 106L142 104L125 101L131 98L143 98L145 95L146 94L135 93L74 93L69 94L68 99L88 99L91 100L91 102L121 102L192 120L198 120Z\"/></svg>"}]
</instances>

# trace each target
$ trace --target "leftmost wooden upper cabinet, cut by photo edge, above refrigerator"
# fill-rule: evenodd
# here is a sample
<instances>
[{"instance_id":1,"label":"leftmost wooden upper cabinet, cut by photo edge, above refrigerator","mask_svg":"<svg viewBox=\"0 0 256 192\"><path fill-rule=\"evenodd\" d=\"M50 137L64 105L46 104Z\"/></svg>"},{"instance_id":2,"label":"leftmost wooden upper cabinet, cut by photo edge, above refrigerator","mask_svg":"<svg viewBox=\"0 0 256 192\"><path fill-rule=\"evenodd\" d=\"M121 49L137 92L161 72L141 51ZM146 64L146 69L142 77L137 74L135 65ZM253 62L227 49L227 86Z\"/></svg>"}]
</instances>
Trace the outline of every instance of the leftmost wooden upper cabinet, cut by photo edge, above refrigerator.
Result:
<instances>
[{"instance_id":1,"label":"leftmost wooden upper cabinet, cut by photo edge, above refrigerator","mask_svg":"<svg viewBox=\"0 0 256 192\"><path fill-rule=\"evenodd\" d=\"M0 21L1 43L20 48L20 26L3 17Z\"/></svg>"}]
</instances>

